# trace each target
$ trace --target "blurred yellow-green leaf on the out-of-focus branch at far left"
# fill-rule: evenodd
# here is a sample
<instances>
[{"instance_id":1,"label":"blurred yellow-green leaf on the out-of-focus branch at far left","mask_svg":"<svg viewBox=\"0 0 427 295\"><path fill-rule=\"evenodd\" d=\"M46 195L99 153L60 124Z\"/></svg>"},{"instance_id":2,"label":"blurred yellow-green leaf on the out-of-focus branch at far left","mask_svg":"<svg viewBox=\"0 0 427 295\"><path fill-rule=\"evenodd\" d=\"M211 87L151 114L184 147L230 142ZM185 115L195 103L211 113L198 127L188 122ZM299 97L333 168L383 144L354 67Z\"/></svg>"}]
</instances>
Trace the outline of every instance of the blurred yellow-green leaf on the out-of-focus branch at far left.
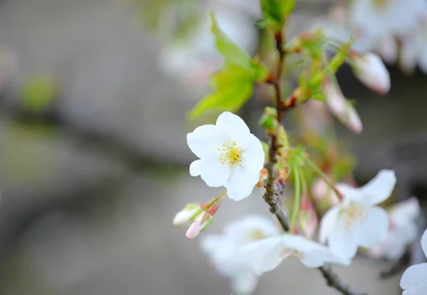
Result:
<instances>
[{"instance_id":1,"label":"blurred yellow-green leaf on the out-of-focus branch at far left","mask_svg":"<svg viewBox=\"0 0 427 295\"><path fill-rule=\"evenodd\" d=\"M30 112L41 112L58 95L58 83L51 76L39 76L27 81L21 88L22 105Z\"/></svg>"}]
</instances>

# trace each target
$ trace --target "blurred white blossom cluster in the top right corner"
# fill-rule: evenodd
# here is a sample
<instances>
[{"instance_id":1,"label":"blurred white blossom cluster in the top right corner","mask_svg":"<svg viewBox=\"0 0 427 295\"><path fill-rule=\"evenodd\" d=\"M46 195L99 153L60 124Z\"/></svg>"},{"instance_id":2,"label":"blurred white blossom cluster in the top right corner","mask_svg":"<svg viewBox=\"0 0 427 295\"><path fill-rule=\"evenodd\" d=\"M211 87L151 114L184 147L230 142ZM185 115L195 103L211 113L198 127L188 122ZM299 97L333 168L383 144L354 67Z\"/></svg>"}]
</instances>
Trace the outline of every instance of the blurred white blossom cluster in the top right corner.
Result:
<instances>
[{"instance_id":1,"label":"blurred white blossom cluster in the top right corner","mask_svg":"<svg viewBox=\"0 0 427 295\"><path fill-rule=\"evenodd\" d=\"M427 3L423 0L352 0L334 6L321 25L328 36L348 41L354 51L375 51L406 73L427 73Z\"/></svg>"}]
</instances>

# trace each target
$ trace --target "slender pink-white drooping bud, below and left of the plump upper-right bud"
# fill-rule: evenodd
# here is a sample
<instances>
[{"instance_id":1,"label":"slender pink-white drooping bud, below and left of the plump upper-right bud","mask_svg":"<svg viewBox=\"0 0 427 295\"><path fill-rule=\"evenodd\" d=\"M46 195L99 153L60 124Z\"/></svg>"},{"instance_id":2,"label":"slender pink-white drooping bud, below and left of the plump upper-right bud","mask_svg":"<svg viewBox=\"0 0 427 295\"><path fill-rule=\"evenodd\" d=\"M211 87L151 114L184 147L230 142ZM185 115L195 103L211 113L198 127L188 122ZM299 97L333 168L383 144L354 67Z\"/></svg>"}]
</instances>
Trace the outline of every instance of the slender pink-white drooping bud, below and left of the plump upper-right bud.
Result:
<instances>
[{"instance_id":1,"label":"slender pink-white drooping bud, below and left of the plump upper-right bud","mask_svg":"<svg viewBox=\"0 0 427 295\"><path fill-rule=\"evenodd\" d=\"M334 83L325 80L323 83L323 92L327 105L330 107L332 113L337 116L338 120L354 133L361 133L362 121L354 106L344 98L341 89L335 86Z\"/></svg>"}]
</instances>

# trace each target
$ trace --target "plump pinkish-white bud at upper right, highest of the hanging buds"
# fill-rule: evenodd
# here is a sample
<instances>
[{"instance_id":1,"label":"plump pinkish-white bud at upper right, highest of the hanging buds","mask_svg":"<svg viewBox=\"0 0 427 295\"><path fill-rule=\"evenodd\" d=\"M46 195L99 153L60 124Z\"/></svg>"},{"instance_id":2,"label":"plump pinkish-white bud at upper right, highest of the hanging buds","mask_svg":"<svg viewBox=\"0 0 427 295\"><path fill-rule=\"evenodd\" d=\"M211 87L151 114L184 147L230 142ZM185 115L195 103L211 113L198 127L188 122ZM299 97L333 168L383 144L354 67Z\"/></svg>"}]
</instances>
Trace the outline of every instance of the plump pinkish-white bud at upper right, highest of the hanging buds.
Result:
<instances>
[{"instance_id":1,"label":"plump pinkish-white bud at upper right, highest of the hanging buds","mask_svg":"<svg viewBox=\"0 0 427 295\"><path fill-rule=\"evenodd\" d=\"M390 74L381 58L374 53L352 56L354 75L379 94L390 90Z\"/></svg>"}]
</instances>

